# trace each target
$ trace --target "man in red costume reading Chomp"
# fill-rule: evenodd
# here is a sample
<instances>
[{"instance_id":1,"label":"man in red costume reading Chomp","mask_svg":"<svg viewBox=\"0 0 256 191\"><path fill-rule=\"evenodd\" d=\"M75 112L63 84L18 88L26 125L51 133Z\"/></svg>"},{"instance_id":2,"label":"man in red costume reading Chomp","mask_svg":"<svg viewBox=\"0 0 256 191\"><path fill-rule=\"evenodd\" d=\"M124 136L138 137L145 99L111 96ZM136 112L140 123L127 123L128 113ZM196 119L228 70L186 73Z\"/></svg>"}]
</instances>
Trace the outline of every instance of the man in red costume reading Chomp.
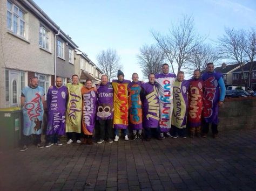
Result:
<instances>
[{"instance_id":1,"label":"man in red costume reading Chomp","mask_svg":"<svg viewBox=\"0 0 256 191\"><path fill-rule=\"evenodd\" d=\"M193 78L190 80L188 90L188 124L190 127L190 137L201 134L201 114L203 110L203 84L200 79L199 69L194 70Z\"/></svg>"}]
</instances>

